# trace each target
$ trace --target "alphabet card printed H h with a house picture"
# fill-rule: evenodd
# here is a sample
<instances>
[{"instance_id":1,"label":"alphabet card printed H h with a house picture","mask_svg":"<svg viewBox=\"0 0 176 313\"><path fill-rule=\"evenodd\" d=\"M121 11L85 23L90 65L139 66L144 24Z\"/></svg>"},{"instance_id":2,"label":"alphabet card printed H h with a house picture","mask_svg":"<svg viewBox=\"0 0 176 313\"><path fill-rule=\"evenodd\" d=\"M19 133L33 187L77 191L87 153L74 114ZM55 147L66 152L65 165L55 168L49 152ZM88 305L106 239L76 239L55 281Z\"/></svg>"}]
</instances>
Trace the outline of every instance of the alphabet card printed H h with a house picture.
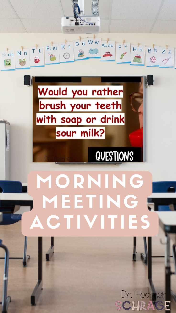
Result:
<instances>
[{"instance_id":1,"label":"alphabet card printed H h with a house picture","mask_svg":"<svg viewBox=\"0 0 176 313\"><path fill-rule=\"evenodd\" d=\"M145 64L145 46L131 45L131 63L130 65Z\"/></svg>"}]
</instances>

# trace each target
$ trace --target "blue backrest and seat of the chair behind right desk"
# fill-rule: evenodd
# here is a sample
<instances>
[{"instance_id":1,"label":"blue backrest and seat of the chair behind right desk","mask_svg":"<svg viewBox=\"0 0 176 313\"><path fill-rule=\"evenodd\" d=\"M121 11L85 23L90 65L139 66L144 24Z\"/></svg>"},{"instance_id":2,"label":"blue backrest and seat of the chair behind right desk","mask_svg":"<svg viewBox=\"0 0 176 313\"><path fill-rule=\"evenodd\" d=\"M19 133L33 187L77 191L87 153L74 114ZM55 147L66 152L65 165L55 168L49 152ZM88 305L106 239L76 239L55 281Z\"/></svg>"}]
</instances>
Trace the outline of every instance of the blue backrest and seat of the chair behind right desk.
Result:
<instances>
[{"instance_id":1,"label":"blue backrest and seat of the chair behind right desk","mask_svg":"<svg viewBox=\"0 0 176 313\"><path fill-rule=\"evenodd\" d=\"M176 182L153 182L153 192L176 192ZM176 206L174 206L176 210ZM169 211L168 205L158 205L158 211Z\"/></svg>"}]
</instances>

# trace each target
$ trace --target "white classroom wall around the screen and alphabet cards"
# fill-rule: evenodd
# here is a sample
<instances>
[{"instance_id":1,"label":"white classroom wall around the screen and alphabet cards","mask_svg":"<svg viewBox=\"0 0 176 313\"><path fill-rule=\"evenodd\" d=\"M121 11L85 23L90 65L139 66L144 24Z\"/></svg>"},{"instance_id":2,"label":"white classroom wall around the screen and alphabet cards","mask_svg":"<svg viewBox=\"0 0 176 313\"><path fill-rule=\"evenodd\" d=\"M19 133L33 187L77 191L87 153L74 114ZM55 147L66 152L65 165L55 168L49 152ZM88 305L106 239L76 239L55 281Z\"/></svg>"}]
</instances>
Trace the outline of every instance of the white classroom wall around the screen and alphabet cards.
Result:
<instances>
[{"instance_id":1,"label":"white classroom wall around the screen and alphabet cards","mask_svg":"<svg viewBox=\"0 0 176 313\"><path fill-rule=\"evenodd\" d=\"M84 36L86 37L86 36ZM90 35L88 37L91 37ZM97 35L98 37L98 35ZM131 44L176 48L175 34L100 34L102 39ZM76 35L59 33L0 34L0 49L29 48L51 41L58 43L78 39ZM80 68L79 68L80 66ZM24 86L24 75L148 75L153 74L154 86L146 89L146 162L121 165L56 165L32 163L32 87ZM28 70L0 72L0 119L10 121L10 179L27 182L32 170L148 170L153 180L176 180L176 69L130 66L96 59L76 61Z\"/></svg>"}]
</instances>

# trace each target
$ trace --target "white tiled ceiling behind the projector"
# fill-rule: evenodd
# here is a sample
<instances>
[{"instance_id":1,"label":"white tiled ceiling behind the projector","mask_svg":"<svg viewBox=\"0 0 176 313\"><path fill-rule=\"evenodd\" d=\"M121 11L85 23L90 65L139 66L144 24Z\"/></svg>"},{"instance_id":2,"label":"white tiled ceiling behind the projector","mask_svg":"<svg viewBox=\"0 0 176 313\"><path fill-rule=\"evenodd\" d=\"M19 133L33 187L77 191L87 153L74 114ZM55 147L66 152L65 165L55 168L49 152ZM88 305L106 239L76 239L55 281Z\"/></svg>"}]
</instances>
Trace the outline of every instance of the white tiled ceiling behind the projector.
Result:
<instances>
[{"instance_id":1,"label":"white tiled ceiling behind the projector","mask_svg":"<svg viewBox=\"0 0 176 313\"><path fill-rule=\"evenodd\" d=\"M71 0L0 0L0 33L61 33L63 15ZM99 15L101 33L176 33L176 0L99 0Z\"/></svg>"}]
</instances>

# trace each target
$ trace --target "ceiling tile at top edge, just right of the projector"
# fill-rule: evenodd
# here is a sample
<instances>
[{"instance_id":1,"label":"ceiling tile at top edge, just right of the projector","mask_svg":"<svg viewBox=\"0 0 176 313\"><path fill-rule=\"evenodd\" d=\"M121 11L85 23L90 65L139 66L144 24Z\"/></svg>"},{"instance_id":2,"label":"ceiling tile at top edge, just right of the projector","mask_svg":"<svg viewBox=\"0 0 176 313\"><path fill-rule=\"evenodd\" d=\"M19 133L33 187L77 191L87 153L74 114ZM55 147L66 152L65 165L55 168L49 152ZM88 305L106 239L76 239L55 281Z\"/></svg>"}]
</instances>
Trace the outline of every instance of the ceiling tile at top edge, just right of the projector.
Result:
<instances>
[{"instance_id":1,"label":"ceiling tile at top edge, just right of the projector","mask_svg":"<svg viewBox=\"0 0 176 313\"><path fill-rule=\"evenodd\" d=\"M112 0L112 19L154 20L161 0Z\"/></svg>"}]
</instances>

